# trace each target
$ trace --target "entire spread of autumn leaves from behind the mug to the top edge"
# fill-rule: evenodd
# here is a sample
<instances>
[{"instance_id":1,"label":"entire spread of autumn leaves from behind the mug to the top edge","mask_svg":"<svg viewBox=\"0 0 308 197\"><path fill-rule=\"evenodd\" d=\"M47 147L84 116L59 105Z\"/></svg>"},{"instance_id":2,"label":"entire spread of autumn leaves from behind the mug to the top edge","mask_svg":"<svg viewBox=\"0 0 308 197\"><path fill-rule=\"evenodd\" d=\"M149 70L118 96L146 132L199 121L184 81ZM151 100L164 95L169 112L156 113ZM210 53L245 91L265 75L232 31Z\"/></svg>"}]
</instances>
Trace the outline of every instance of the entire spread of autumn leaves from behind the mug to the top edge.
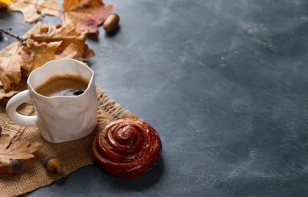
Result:
<instances>
[{"instance_id":1,"label":"entire spread of autumn leaves from behind the mug to the top edge","mask_svg":"<svg viewBox=\"0 0 308 197\"><path fill-rule=\"evenodd\" d=\"M63 23L62 27L39 21L31 35L14 36L16 45L0 56L0 106L18 93L11 90L12 83L18 84L46 62L62 58L85 61L94 56L85 43L86 36L99 34L98 26L117 6L105 5L102 0L64 0L62 7L64 10L55 0L0 0L0 8L22 12L29 23L46 14L61 16Z\"/></svg>"}]
</instances>

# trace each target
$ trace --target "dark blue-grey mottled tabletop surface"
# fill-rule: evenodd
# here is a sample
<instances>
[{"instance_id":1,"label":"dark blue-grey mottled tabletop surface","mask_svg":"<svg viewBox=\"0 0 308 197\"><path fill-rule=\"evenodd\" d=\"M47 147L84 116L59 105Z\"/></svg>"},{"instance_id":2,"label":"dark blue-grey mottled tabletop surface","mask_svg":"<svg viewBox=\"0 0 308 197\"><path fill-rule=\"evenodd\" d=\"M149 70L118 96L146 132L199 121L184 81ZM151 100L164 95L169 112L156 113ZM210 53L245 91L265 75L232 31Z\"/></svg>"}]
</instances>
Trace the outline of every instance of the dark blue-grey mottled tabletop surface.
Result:
<instances>
[{"instance_id":1,"label":"dark blue-grey mottled tabletop surface","mask_svg":"<svg viewBox=\"0 0 308 197\"><path fill-rule=\"evenodd\" d=\"M163 157L142 177L90 165L28 196L307 196L307 1L106 3L119 6L121 28L87 40L88 63L111 98L157 129Z\"/></svg>"}]
</instances>

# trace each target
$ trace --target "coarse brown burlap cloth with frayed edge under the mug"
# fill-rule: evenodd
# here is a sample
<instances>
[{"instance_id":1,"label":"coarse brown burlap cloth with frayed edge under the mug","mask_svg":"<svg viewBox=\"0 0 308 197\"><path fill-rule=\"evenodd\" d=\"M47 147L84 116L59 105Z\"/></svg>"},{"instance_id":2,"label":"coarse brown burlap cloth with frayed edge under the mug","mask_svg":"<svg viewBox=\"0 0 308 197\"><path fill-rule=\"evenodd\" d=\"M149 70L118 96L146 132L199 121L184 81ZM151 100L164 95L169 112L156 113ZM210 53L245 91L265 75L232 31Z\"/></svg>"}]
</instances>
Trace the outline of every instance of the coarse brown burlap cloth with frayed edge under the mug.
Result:
<instances>
[{"instance_id":1,"label":"coarse brown burlap cloth with frayed edge under the mug","mask_svg":"<svg viewBox=\"0 0 308 197\"><path fill-rule=\"evenodd\" d=\"M31 30L30 30L31 31ZM13 43L14 44L14 43ZM8 46L10 48L10 46ZM4 50L7 50L4 49ZM0 55L1 55L0 51ZM3 53L2 53L3 54ZM12 85L12 89L23 91L27 89L26 80ZM0 124L3 134L9 134L12 142L30 141L44 144L43 149L34 153L35 157L29 160L20 160L23 164L22 170L13 174L0 174L0 196L16 196L36 188L47 186L53 181L65 177L70 172L88 164L93 164L91 145L95 135L111 121L122 118L136 118L137 116L121 108L120 104L110 99L99 87L98 93L98 125L93 132L82 139L54 144L44 140L37 127L23 127L11 122L5 111L0 107ZM34 109L30 102L18 107L18 113L33 115ZM63 165L63 173L53 174L43 166L43 159L47 156L55 156Z\"/></svg>"}]
</instances>

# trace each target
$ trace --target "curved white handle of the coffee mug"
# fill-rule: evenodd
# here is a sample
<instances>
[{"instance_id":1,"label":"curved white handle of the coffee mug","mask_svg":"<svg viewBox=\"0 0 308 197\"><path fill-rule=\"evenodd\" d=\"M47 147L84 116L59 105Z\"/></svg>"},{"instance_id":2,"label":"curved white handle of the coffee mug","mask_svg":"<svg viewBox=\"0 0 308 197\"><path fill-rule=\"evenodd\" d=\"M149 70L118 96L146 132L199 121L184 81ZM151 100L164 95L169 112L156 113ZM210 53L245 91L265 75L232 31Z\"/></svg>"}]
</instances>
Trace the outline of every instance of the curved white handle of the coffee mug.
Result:
<instances>
[{"instance_id":1,"label":"curved white handle of the coffee mug","mask_svg":"<svg viewBox=\"0 0 308 197\"><path fill-rule=\"evenodd\" d=\"M24 102L31 101L30 91L25 90L21 93L16 94L13 96L6 107L6 113L9 119L14 122L15 124L21 126L37 126L37 116L25 116L18 114L16 112L16 108L23 104Z\"/></svg>"}]
</instances>

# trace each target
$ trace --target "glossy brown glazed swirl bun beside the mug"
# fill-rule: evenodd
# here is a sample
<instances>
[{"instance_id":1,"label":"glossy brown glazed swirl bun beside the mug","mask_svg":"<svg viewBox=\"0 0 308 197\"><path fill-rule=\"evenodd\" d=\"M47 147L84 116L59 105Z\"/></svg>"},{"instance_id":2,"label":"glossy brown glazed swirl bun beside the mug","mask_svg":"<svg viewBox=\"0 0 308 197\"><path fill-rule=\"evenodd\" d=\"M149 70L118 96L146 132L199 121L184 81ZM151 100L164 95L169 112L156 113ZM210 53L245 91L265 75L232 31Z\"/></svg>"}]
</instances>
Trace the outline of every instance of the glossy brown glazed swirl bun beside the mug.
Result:
<instances>
[{"instance_id":1,"label":"glossy brown glazed swirl bun beside the mug","mask_svg":"<svg viewBox=\"0 0 308 197\"><path fill-rule=\"evenodd\" d=\"M111 176L132 178L155 166L162 143L149 124L121 119L103 128L94 139L92 151L95 161Z\"/></svg>"}]
</instances>

